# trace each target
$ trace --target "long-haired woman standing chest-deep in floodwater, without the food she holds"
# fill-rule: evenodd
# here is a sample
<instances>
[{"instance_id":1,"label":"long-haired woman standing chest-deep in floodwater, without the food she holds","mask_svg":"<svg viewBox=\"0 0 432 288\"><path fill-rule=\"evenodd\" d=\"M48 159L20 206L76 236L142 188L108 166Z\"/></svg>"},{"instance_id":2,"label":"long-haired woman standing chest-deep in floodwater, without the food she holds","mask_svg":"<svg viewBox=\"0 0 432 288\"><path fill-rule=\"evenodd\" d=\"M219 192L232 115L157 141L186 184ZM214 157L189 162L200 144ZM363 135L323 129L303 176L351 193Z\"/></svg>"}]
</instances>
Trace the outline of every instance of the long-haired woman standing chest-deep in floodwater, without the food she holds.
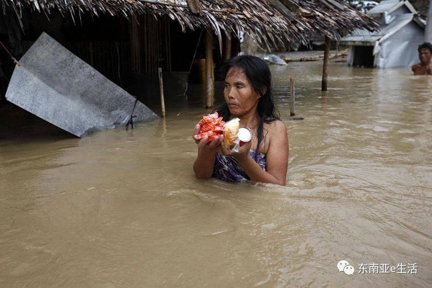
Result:
<instances>
[{"instance_id":1,"label":"long-haired woman standing chest-deep in floodwater, without the food she holds","mask_svg":"<svg viewBox=\"0 0 432 288\"><path fill-rule=\"evenodd\" d=\"M239 152L231 152L221 145L223 135L207 144L207 136L197 141L198 157L193 164L195 176L285 185L288 136L273 105L267 63L258 57L241 55L228 60L223 73L225 104L214 111L223 116L224 121L240 118L240 126L250 129L252 140ZM195 126L193 134L198 134L199 130L200 125Z\"/></svg>"}]
</instances>

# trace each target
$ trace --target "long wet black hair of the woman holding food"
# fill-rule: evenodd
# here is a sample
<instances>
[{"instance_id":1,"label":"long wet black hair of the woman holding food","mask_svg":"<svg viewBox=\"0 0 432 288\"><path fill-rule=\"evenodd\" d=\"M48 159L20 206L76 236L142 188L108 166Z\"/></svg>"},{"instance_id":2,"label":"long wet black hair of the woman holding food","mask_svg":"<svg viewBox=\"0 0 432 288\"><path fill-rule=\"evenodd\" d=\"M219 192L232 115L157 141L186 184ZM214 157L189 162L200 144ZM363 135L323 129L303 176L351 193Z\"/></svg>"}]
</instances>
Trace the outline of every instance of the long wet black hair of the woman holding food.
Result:
<instances>
[{"instance_id":1,"label":"long wet black hair of the woman holding food","mask_svg":"<svg viewBox=\"0 0 432 288\"><path fill-rule=\"evenodd\" d=\"M274 120L279 120L280 118L279 111L273 104L270 68L264 60L256 56L240 55L226 61L224 66L221 68L221 76L223 79L226 78L227 73L231 68L235 70L241 69L249 80L252 88L261 96L258 100L257 106L257 111L260 116L260 122L257 129L257 153L255 155L255 159L257 160L259 148L264 138L264 123L270 123ZM265 93L263 93L264 91ZM231 116L226 103L214 111L218 111L218 114L223 116L224 121L228 121Z\"/></svg>"}]
</instances>

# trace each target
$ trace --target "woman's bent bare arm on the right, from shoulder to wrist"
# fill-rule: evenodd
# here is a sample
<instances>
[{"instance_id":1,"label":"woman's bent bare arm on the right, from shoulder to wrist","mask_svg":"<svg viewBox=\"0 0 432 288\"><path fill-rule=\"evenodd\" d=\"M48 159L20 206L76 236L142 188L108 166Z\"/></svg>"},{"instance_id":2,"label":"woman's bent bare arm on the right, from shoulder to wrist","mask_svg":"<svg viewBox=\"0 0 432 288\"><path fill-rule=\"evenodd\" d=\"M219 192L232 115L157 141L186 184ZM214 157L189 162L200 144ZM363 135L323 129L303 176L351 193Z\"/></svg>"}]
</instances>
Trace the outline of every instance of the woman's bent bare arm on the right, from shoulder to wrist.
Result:
<instances>
[{"instance_id":1,"label":"woman's bent bare arm on the right, from shoulder to wrist","mask_svg":"<svg viewBox=\"0 0 432 288\"><path fill-rule=\"evenodd\" d=\"M266 171L252 159L249 153L233 156L252 181L285 186L289 149L285 124L282 121L272 122L267 137L270 142L266 154Z\"/></svg>"}]
</instances>

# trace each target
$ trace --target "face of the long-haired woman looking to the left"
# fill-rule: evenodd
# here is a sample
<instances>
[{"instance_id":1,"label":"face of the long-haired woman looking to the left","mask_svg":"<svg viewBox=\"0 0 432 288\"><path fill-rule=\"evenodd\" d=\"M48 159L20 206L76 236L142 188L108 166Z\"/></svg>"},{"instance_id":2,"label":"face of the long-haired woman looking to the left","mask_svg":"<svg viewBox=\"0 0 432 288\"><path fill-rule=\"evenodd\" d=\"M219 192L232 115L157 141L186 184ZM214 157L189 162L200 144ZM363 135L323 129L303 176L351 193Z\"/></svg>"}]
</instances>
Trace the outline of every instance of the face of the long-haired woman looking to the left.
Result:
<instances>
[{"instance_id":1,"label":"face of the long-haired woman looking to the left","mask_svg":"<svg viewBox=\"0 0 432 288\"><path fill-rule=\"evenodd\" d=\"M260 99L243 69L235 67L230 68L226 75L224 97L229 112L236 117L256 109Z\"/></svg>"}]
</instances>

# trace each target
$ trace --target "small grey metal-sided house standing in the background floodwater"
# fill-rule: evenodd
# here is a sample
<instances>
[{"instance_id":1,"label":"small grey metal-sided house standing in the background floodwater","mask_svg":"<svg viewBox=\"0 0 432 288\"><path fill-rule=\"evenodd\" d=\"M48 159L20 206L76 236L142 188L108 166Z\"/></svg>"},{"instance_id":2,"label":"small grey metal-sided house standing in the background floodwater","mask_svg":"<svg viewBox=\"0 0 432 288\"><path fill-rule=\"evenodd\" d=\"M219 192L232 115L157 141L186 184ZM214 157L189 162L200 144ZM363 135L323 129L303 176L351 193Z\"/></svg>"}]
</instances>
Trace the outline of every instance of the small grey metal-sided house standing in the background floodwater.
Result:
<instances>
[{"instance_id":1,"label":"small grey metal-sided house standing in the background floodwater","mask_svg":"<svg viewBox=\"0 0 432 288\"><path fill-rule=\"evenodd\" d=\"M392 68L418 62L425 22L408 1L385 0L367 12L380 25L375 32L356 30L340 40L349 46L350 66Z\"/></svg>"}]
</instances>

